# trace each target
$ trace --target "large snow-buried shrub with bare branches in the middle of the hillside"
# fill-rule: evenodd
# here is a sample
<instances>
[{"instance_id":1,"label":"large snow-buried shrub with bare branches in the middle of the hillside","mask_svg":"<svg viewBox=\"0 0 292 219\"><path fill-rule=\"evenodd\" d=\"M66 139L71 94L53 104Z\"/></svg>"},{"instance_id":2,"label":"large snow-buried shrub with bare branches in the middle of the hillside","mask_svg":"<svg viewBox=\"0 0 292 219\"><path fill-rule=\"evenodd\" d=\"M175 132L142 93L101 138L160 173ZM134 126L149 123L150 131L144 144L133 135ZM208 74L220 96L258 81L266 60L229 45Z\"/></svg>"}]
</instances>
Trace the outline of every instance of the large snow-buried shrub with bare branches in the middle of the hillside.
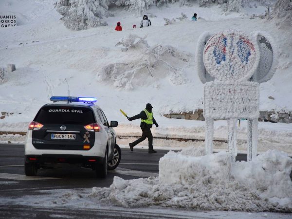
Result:
<instances>
[{"instance_id":1,"label":"large snow-buried shrub with bare branches in the middle of the hillside","mask_svg":"<svg viewBox=\"0 0 292 219\"><path fill-rule=\"evenodd\" d=\"M140 55L125 63L112 63L105 66L97 74L97 78L112 83L116 88L125 89L144 86L147 83L152 84L164 77L168 77L174 85L185 83L186 79L182 75L182 67L185 62L189 61L189 55L172 46L149 47L145 38L137 35L122 38L116 44L124 47L122 51ZM134 50L130 50L130 48Z\"/></svg>"}]
</instances>

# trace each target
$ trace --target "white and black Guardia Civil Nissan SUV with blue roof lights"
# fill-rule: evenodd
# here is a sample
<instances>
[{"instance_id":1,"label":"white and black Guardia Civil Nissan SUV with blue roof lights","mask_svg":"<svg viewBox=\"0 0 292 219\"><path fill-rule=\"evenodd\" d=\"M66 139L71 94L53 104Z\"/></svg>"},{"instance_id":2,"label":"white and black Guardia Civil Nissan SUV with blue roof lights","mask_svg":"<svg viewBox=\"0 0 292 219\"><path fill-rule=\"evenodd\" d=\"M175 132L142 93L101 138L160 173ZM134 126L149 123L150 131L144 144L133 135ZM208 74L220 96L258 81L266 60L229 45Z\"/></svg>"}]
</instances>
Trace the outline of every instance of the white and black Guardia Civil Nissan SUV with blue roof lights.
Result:
<instances>
[{"instance_id":1,"label":"white and black Guardia Civil Nissan SUV with blue roof lights","mask_svg":"<svg viewBox=\"0 0 292 219\"><path fill-rule=\"evenodd\" d=\"M92 97L52 96L30 123L25 142L25 175L57 164L82 164L106 177L121 160L113 130Z\"/></svg>"}]
</instances>

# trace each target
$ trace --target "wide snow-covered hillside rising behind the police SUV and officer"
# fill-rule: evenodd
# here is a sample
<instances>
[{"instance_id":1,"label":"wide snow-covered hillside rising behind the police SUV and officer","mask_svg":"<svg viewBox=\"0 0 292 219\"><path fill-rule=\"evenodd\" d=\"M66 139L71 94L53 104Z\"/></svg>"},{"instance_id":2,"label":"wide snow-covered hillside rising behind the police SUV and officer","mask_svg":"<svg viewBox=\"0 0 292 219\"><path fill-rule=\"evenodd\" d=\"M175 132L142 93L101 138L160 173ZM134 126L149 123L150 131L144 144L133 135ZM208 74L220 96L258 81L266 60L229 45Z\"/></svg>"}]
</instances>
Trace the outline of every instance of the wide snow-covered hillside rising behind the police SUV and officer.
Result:
<instances>
[{"instance_id":1,"label":"wide snow-covered hillside rising behind the police SUV and officer","mask_svg":"<svg viewBox=\"0 0 292 219\"><path fill-rule=\"evenodd\" d=\"M0 82L0 111L14 113L0 120L0 130L25 131L52 95L67 95L67 79L71 95L98 99L109 120L120 122L119 133L139 132L139 121L126 126L129 122L119 109L132 116L150 102L161 125L154 133L184 127L191 134L192 128L204 123L174 121L163 114L202 109L203 84L194 61L197 40L204 31L216 33L229 28L247 33L266 31L274 37L279 66L274 77L260 85L260 110L292 109L292 29L277 26L274 20L251 19L252 14L263 13L264 7L245 8L240 14L198 4L150 7L146 14L152 26L148 28L139 28L140 15L121 8L109 10L114 17L104 18L108 26L72 31L59 20L52 0L0 1L0 13L16 15L18 22L17 27L0 29L0 67L16 64L17 68ZM190 19L195 12L199 17L196 22ZM181 18L181 13L188 18ZM176 21L164 25L164 18ZM117 21L123 31L114 31ZM133 24L138 28L133 29ZM127 49L129 40L134 46ZM219 122L218 127L221 125ZM268 129L284 130L283 136L292 132L289 124Z\"/></svg>"}]
</instances>

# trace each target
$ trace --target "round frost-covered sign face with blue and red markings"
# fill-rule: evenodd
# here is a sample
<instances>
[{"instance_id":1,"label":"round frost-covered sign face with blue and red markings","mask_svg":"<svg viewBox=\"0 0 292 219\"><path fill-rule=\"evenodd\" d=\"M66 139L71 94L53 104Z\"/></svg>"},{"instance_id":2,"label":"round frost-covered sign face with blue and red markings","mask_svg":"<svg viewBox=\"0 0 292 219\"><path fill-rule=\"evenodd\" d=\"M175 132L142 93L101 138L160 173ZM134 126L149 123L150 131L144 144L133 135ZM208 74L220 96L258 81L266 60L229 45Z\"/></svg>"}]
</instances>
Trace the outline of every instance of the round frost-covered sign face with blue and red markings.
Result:
<instances>
[{"instance_id":1,"label":"round frost-covered sign face with blue and red markings","mask_svg":"<svg viewBox=\"0 0 292 219\"><path fill-rule=\"evenodd\" d=\"M256 48L242 32L236 30L215 34L203 53L208 73L219 80L238 80L253 70Z\"/></svg>"}]
</instances>

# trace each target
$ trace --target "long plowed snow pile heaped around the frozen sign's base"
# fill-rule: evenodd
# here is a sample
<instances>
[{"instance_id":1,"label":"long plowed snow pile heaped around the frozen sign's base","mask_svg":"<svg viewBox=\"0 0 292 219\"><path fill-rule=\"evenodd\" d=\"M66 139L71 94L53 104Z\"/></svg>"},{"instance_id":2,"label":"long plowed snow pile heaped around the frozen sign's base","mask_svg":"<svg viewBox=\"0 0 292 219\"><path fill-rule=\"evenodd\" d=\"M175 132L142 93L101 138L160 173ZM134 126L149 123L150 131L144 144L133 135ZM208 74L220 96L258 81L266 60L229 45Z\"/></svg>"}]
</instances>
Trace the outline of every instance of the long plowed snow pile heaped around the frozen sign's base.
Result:
<instances>
[{"instance_id":1,"label":"long plowed snow pile heaped around the frozen sign's base","mask_svg":"<svg viewBox=\"0 0 292 219\"><path fill-rule=\"evenodd\" d=\"M159 177L115 177L110 188L93 187L91 197L122 207L292 212L291 170L292 159L278 150L232 164L226 152L188 148L161 158Z\"/></svg>"}]
</instances>

